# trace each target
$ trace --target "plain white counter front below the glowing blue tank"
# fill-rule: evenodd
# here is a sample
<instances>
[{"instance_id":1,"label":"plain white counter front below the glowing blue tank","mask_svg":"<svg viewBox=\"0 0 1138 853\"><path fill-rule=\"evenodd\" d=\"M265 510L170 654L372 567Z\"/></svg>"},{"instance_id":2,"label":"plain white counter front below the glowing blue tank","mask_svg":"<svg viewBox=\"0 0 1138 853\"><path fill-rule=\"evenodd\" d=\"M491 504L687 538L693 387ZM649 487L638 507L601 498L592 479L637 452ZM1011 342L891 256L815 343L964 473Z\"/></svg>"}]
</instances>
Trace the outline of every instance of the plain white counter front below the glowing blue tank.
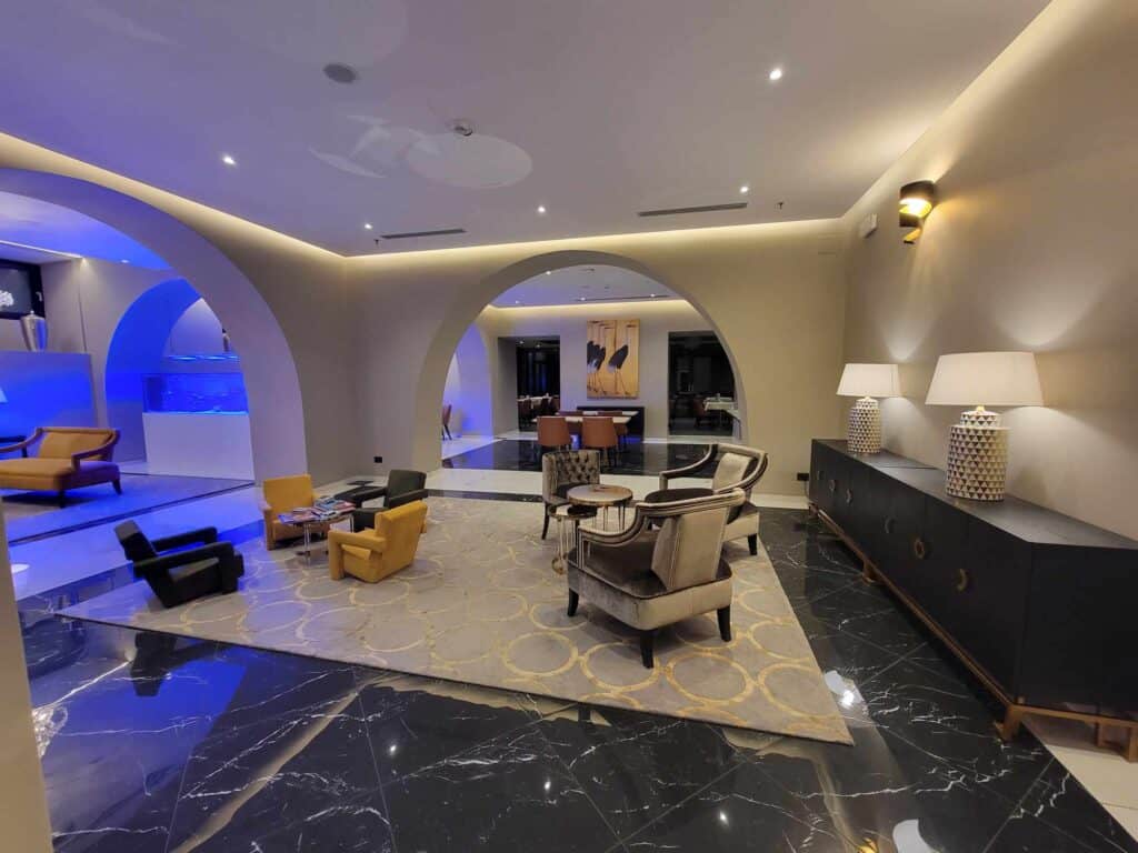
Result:
<instances>
[{"instance_id":1,"label":"plain white counter front below the glowing blue tank","mask_svg":"<svg viewBox=\"0 0 1138 853\"><path fill-rule=\"evenodd\" d=\"M146 412L142 430L151 474L253 479L246 412Z\"/></svg>"}]
</instances>

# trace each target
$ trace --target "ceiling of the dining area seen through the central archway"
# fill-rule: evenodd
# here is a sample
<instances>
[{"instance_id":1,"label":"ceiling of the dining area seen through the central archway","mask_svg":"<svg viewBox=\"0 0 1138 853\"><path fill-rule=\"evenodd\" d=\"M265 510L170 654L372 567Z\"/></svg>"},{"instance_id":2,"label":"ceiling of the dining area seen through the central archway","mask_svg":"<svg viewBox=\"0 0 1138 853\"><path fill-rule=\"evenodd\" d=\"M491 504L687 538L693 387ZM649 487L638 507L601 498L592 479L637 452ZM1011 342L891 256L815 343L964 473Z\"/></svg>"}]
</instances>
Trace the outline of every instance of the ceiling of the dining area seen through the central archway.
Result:
<instances>
[{"instance_id":1,"label":"ceiling of the dining area seen through the central archway","mask_svg":"<svg viewBox=\"0 0 1138 853\"><path fill-rule=\"evenodd\" d=\"M567 266L514 284L490 305L520 308L630 299L678 299L654 279L619 266Z\"/></svg>"}]
</instances>

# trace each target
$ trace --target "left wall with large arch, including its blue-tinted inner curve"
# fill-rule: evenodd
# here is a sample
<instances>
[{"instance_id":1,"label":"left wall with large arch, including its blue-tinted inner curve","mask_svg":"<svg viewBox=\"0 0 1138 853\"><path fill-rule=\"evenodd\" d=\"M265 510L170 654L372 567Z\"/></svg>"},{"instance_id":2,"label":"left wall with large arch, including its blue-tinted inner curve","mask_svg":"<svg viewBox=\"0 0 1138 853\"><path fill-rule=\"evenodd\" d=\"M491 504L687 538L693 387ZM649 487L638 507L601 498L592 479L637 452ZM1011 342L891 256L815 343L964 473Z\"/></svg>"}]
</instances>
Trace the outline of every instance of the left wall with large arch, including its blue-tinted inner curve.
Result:
<instances>
[{"instance_id":1,"label":"left wall with large arch, including its blue-tinted inner curve","mask_svg":"<svg viewBox=\"0 0 1138 853\"><path fill-rule=\"evenodd\" d=\"M106 175L108 182L143 188L160 201L170 200L174 206L190 207L190 213L203 216L212 230L224 233L225 240L218 242L231 242L229 248L233 257L181 218L152 204L67 174L6 167L13 160L46 160L68 171ZM306 403L311 406L310 411L349 414L352 408L347 378L339 370L327 370L323 364L329 355L339 355L337 350L343 351L348 346L347 336L343 333L343 293L338 292L343 284L340 258L86 164L11 141L10 138L0 138L0 189L69 207L105 222L156 251L193 284L224 323L234 348L242 353L257 479L304 470L312 470L318 479L332 479L346 473L349 442L333 441L332 436L324 436L318 429L316 434L310 437L316 453L310 454L305 434ZM292 274L287 281L294 289L298 281L306 278L316 280L314 284L327 285L324 292L319 293L318 290L316 298L306 296L303 303L295 293L282 295L286 310L295 318L295 326L306 324L304 317L297 316L303 312L296 308L311 305L307 331L324 329L328 332L327 349L314 346L311 337L302 338L305 355L308 356L305 366L312 388L311 403L302 397L298 367L274 312L238 262L254 270L262 281L280 275L281 268L288 267L291 262ZM335 317L330 318L332 312ZM336 334L336 331L339 333ZM337 366L341 363L341 358L336 358ZM343 378L343 384L337 382L337 378ZM347 431L351 431L352 419L344 420L348 424ZM327 429L323 422L321 425Z\"/></svg>"}]
</instances>

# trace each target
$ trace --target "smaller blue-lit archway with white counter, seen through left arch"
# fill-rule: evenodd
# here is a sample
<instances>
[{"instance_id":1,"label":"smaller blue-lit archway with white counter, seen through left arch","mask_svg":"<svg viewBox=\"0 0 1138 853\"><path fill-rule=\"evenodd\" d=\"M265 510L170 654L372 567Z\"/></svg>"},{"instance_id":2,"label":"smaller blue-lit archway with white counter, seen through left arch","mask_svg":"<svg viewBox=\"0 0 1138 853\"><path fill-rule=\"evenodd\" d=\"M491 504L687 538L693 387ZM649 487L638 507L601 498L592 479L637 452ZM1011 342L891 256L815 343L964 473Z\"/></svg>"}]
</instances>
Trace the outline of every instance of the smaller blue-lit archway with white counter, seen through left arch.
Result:
<instances>
[{"instance_id":1,"label":"smaller blue-lit archway with white counter, seen through left arch","mask_svg":"<svg viewBox=\"0 0 1138 853\"><path fill-rule=\"evenodd\" d=\"M104 386L124 462L145 461L155 474L253 479L239 356L185 280L156 284L123 313Z\"/></svg>"}]
</instances>

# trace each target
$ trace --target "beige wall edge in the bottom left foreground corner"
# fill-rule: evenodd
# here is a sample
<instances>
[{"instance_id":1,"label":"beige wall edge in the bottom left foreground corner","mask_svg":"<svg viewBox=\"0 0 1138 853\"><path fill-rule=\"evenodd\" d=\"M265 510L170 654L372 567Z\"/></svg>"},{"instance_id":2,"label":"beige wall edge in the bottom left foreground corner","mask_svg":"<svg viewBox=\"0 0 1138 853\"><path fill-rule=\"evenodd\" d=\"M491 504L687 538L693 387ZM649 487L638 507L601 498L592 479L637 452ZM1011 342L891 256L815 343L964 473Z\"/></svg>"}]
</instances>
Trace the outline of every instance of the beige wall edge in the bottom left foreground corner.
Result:
<instances>
[{"instance_id":1,"label":"beige wall edge in the bottom left foreground corner","mask_svg":"<svg viewBox=\"0 0 1138 853\"><path fill-rule=\"evenodd\" d=\"M3 850L49 853L51 827L32 728L24 638L0 510L0 838Z\"/></svg>"}]
</instances>

